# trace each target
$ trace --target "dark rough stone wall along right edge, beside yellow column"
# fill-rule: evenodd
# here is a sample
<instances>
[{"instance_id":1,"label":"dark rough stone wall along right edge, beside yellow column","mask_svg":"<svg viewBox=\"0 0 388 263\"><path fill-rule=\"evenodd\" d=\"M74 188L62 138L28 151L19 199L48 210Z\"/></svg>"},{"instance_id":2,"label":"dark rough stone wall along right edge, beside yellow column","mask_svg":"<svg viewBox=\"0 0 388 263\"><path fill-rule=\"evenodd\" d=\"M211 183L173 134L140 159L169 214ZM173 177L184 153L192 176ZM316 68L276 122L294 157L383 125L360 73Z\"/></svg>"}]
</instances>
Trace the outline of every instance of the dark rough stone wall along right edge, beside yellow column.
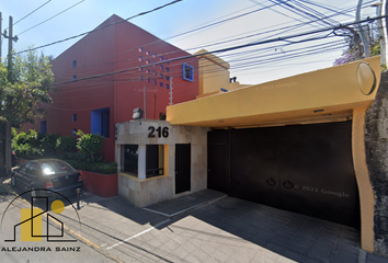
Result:
<instances>
[{"instance_id":1,"label":"dark rough stone wall along right edge, beside yellow column","mask_svg":"<svg viewBox=\"0 0 388 263\"><path fill-rule=\"evenodd\" d=\"M366 111L365 151L375 194L375 252L388 256L388 71Z\"/></svg>"}]
</instances>

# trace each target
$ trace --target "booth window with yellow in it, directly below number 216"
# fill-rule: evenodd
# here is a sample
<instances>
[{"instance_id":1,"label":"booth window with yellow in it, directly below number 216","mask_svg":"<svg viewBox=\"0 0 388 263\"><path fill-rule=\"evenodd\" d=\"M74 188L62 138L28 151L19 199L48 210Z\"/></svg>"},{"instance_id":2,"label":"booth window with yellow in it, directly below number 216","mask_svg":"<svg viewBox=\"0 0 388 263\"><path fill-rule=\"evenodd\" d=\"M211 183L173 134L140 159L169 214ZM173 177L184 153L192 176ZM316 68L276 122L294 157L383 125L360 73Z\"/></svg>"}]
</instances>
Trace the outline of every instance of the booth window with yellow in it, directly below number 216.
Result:
<instances>
[{"instance_id":1,"label":"booth window with yellow in it, directly below number 216","mask_svg":"<svg viewBox=\"0 0 388 263\"><path fill-rule=\"evenodd\" d=\"M147 145L146 146L146 176L159 176L164 174L164 146Z\"/></svg>"}]
</instances>

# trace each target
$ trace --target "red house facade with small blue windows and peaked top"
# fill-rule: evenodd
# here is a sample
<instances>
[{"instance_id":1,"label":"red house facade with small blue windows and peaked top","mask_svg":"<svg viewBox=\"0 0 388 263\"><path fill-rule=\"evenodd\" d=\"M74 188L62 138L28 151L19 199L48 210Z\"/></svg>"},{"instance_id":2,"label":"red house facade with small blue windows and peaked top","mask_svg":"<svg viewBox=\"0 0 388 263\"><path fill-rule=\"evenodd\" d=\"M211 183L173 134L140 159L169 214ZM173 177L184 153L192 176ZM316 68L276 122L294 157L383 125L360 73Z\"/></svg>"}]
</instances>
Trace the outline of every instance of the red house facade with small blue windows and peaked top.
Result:
<instances>
[{"instance_id":1,"label":"red house facade with small blue windows and peaked top","mask_svg":"<svg viewBox=\"0 0 388 263\"><path fill-rule=\"evenodd\" d=\"M112 15L53 60L56 91L35 129L60 136L105 137L103 157L114 161L115 124L133 119L140 107L148 119L166 118L170 102L198 92L197 58L170 61L189 53Z\"/></svg>"}]
</instances>

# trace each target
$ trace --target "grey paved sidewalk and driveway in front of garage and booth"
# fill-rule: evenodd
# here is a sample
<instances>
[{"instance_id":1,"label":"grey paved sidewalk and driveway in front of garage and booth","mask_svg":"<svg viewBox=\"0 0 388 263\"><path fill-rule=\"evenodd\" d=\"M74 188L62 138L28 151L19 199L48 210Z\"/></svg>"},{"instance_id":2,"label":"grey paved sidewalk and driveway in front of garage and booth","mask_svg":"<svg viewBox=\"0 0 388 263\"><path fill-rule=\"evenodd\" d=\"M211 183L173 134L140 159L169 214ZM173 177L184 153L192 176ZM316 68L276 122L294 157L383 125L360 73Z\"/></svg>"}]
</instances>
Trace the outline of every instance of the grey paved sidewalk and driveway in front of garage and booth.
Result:
<instances>
[{"instance_id":1,"label":"grey paved sidewalk and driveway in front of garage and booth","mask_svg":"<svg viewBox=\"0 0 388 263\"><path fill-rule=\"evenodd\" d=\"M116 262L388 262L356 229L210 190L144 209L85 193L78 213L81 241Z\"/></svg>"}]
</instances>

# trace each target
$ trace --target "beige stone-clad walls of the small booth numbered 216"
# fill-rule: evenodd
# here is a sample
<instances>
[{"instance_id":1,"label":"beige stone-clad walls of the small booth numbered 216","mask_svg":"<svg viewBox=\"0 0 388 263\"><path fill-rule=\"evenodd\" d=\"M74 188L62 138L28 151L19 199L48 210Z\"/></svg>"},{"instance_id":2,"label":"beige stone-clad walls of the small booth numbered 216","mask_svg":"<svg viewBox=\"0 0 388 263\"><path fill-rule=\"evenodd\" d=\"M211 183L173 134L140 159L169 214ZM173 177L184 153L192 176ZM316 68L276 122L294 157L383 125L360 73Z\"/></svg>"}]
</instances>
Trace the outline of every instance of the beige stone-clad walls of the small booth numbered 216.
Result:
<instances>
[{"instance_id":1,"label":"beige stone-clad walls of the small booth numbered 216","mask_svg":"<svg viewBox=\"0 0 388 263\"><path fill-rule=\"evenodd\" d=\"M149 127L168 127L169 136L149 138ZM116 162L121 171L122 145L168 145L168 174L138 180L118 173L118 195L136 206L142 207L197 192L207 187L207 128L194 126L172 126L166 121L141 119L116 124ZM191 144L191 191L175 194L175 145Z\"/></svg>"}]
</instances>

